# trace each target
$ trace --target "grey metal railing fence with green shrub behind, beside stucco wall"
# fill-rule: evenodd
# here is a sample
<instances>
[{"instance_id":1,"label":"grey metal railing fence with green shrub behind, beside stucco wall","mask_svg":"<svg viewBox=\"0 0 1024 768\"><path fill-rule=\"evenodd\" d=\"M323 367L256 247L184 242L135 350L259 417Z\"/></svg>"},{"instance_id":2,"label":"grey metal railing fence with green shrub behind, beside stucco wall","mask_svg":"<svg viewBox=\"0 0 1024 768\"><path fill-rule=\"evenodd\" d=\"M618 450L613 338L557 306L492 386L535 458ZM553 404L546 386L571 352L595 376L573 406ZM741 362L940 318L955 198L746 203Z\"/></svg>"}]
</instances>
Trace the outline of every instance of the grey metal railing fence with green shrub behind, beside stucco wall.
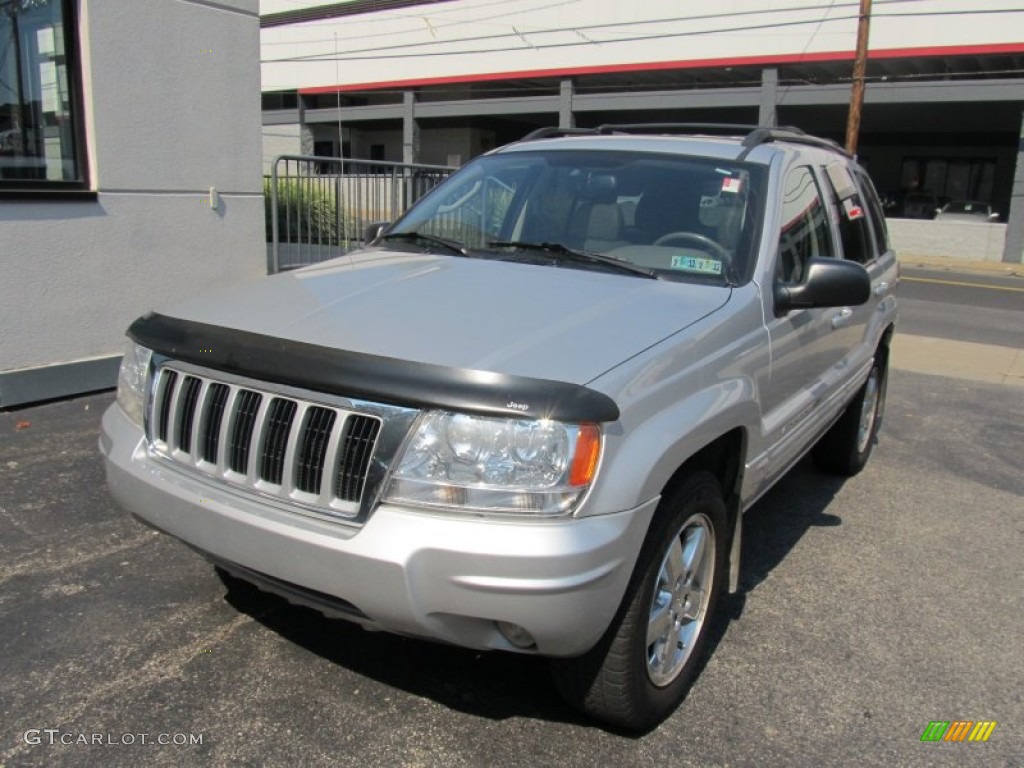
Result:
<instances>
[{"instance_id":1,"label":"grey metal railing fence with green shrub behind, beside stucco wall","mask_svg":"<svg viewBox=\"0 0 1024 768\"><path fill-rule=\"evenodd\" d=\"M268 270L339 256L368 225L394 221L447 178L447 166L282 155L264 177Z\"/></svg>"}]
</instances>

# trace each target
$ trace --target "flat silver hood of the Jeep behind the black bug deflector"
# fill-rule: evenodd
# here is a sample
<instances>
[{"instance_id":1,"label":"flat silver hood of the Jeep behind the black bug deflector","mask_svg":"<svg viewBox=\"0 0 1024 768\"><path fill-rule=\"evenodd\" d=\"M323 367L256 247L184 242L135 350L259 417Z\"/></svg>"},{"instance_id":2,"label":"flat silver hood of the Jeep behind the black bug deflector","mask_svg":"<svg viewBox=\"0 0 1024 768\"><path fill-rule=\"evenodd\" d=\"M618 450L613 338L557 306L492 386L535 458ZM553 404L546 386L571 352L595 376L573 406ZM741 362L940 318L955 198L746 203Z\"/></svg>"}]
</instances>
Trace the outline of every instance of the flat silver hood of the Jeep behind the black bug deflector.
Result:
<instances>
[{"instance_id":1,"label":"flat silver hood of the Jeep behind the black bug deflector","mask_svg":"<svg viewBox=\"0 0 1024 768\"><path fill-rule=\"evenodd\" d=\"M586 384L729 295L723 287L381 250L160 311L352 352Z\"/></svg>"}]
</instances>

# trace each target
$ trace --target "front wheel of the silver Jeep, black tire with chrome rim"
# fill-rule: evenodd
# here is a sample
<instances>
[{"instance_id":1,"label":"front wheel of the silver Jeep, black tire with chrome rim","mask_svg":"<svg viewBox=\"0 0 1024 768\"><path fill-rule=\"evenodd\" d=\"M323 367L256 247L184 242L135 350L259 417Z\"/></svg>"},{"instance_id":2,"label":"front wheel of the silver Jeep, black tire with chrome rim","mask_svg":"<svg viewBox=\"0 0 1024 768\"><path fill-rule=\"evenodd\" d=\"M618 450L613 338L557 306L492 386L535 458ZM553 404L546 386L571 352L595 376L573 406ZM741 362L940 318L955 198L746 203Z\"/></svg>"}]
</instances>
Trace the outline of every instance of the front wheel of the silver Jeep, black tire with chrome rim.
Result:
<instances>
[{"instance_id":1,"label":"front wheel of the silver Jeep, black tire with chrome rim","mask_svg":"<svg viewBox=\"0 0 1024 768\"><path fill-rule=\"evenodd\" d=\"M670 715L701 660L727 553L722 489L710 472L696 472L662 500L604 637L582 656L554 662L566 700L629 730Z\"/></svg>"}]
</instances>

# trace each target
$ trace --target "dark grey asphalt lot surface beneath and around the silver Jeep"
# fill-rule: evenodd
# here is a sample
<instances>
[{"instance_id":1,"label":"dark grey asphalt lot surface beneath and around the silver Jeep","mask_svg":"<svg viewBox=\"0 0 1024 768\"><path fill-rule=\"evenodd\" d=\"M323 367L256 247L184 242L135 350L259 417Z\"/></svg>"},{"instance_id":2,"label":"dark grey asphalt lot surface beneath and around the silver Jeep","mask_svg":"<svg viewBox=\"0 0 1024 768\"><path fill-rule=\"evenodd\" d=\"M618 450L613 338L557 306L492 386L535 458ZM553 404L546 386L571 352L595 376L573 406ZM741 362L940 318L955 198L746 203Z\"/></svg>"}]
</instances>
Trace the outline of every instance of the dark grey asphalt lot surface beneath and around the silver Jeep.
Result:
<instances>
[{"instance_id":1,"label":"dark grey asphalt lot surface beneath and around the silver Jeep","mask_svg":"<svg viewBox=\"0 0 1024 768\"><path fill-rule=\"evenodd\" d=\"M639 737L542 660L225 599L106 495L112 394L0 414L0 765L1021 765L1022 391L894 372L861 475L805 463L752 510L715 652Z\"/></svg>"}]
</instances>

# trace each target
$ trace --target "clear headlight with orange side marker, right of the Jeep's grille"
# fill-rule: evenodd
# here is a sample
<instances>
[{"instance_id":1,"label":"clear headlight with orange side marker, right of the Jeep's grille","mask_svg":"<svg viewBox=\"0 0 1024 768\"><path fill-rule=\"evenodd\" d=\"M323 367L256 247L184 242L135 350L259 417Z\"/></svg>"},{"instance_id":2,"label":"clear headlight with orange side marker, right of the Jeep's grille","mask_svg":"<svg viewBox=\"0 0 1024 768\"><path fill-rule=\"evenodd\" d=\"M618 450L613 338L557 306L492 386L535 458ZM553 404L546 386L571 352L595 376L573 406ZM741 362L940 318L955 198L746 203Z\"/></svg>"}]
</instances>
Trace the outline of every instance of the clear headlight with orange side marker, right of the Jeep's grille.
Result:
<instances>
[{"instance_id":1,"label":"clear headlight with orange side marker, right of the Jeep's grille","mask_svg":"<svg viewBox=\"0 0 1024 768\"><path fill-rule=\"evenodd\" d=\"M445 509L571 512L597 471L594 424L429 412L395 464L388 502Z\"/></svg>"}]
</instances>

